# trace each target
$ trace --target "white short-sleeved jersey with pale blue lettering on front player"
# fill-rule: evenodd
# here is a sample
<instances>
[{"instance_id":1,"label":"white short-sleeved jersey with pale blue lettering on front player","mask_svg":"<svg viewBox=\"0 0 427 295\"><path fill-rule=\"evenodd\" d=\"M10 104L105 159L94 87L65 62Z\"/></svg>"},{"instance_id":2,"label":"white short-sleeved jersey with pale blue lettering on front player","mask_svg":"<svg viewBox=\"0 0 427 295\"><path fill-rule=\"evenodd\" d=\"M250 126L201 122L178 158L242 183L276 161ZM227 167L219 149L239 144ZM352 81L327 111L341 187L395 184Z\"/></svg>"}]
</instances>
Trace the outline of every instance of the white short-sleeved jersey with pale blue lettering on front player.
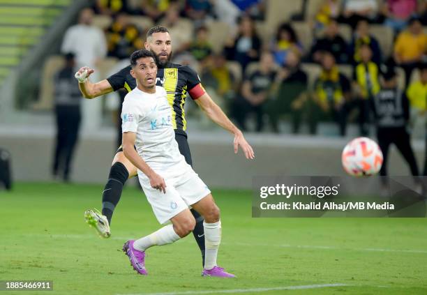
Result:
<instances>
[{"instance_id":1,"label":"white short-sleeved jersey with pale blue lettering on front player","mask_svg":"<svg viewBox=\"0 0 427 295\"><path fill-rule=\"evenodd\" d=\"M138 88L130 91L123 101L121 120L122 132L136 133L137 153L160 176L177 176L190 168L179 152L163 87L156 86L152 94Z\"/></svg>"}]
</instances>

